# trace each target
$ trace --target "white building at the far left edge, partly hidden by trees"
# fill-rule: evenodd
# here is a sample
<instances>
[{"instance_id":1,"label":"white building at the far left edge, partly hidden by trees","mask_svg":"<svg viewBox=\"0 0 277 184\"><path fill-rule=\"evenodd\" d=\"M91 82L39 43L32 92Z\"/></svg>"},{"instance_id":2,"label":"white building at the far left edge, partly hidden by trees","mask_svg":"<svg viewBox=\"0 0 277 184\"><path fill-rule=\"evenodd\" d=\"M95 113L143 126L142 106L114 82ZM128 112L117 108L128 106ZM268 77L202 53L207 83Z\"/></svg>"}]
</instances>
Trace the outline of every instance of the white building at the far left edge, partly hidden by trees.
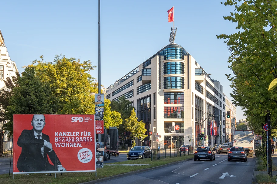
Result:
<instances>
[{"instance_id":1,"label":"white building at the far left edge, partly hidden by trees","mask_svg":"<svg viewBox=\"0 0 277 184\"><path fill-rule=\"evenodd\" d=\"M18 72L16 64L9 56L9 52L6 48L4 38L0 30L0 90L7 90L4 80L6 80L7 77L12 78L12 76L16 76L16 72ZM3 133L3 123L5 122L0 122L0 148L2 148L2 150L0 150L0 154L12 147L11 139L7 137L7 134Z\"/></svg>"}]
</instances>

